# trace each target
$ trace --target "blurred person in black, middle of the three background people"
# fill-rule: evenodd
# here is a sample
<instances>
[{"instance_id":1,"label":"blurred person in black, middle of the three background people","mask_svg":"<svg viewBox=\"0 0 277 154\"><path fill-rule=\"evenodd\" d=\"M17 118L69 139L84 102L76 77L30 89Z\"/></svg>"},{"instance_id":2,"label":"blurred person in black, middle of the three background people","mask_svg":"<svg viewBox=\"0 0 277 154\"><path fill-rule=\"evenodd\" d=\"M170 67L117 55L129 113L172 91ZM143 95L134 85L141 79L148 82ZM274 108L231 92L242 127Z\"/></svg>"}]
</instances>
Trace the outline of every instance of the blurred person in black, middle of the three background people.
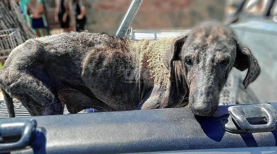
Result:
<instances>
[{"instance_id":1,"label":"blurred person in black, middle of the three background people","mask_svg":"<svg viewBox=\"0 0 277 154\"><path fill-rule=\"evenodd\" d=\"M60 24L60 27L64 29L65 32L69 32L69 3L68 0L57 0L55 9L55 21Z\"/></svg>"}]
</instances>

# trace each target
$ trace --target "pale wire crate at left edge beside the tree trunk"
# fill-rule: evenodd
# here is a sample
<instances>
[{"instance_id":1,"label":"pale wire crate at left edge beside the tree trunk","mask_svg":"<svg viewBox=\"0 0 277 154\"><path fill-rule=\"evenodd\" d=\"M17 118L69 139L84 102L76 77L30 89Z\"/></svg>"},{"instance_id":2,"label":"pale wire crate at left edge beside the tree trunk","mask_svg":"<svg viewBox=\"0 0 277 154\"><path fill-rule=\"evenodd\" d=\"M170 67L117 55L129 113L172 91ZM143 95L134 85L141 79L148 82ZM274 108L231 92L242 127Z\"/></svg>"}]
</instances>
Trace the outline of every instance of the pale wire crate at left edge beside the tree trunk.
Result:
<instances>
[{"instance_id":1,"label":"pale wire crate at left edge beside the tree trunk","mask_svg":"<svg viewBox=\"0 0 277 154\"><path fill-rule=\"evenodd\" d=\"M11 51L22 43L19 29L0 30L0 62L4 64Z\"/></svg>"}]
</instances>

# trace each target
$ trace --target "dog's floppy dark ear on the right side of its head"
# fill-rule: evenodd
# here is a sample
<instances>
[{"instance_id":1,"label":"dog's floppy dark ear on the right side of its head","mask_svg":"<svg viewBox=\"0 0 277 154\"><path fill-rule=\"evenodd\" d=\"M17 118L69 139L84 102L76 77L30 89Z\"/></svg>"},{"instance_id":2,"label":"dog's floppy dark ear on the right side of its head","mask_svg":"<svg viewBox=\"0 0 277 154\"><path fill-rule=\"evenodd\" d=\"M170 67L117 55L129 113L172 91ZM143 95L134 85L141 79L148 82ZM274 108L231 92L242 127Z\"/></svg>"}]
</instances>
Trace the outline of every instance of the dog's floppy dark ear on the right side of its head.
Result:
<instances>
[{"instance_id":1,"label":"dog's floppy dark ear on the right side of its head","mask_svg":"<svg viewBox=\"0 0 277 154\"><path fill-rule=\"evenodd\" d=\"M248 68L246 77L243 80L245 89L260 75L260 66L257 59L253 56L249 48L242 45L240 42L237 42L236 45L236 59L234 67L240 71L244 71Z\"/></svg>"}]
</instances>

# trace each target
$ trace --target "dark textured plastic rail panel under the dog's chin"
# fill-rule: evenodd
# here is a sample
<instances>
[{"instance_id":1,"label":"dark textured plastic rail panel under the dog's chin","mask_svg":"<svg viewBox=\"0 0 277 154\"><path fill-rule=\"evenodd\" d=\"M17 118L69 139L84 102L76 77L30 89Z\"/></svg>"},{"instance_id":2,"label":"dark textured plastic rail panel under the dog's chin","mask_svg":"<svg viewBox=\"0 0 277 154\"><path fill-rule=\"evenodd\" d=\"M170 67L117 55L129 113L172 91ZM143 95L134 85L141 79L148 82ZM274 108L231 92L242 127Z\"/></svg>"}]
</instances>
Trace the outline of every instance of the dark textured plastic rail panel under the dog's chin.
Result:
<instances>
[{"instance_id":1,"label":"dark textured plastic rail panel under the dog's chin","mask_svg":"<svg viewBox=\"0 0 277 154\"><path fill-rule=\"evenodd\" d=\"M276 103L271 103L277 109ZM31 143L37 153L128 153L189 149L276 146L277 131L234 134L224 130L219 106L213 117L194 116L190 108L135 110L1 118L36 119Z\"/></svg>"}]
</instances>

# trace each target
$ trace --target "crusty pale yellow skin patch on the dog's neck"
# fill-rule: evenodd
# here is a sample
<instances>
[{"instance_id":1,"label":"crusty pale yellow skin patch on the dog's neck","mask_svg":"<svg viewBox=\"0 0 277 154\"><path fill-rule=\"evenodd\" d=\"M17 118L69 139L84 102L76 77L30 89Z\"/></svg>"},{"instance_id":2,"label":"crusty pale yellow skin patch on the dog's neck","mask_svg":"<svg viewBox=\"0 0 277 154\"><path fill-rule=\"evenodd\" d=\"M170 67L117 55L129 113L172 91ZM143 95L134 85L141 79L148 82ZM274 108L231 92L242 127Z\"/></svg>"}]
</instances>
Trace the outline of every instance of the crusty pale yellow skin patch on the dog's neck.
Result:
<instances>
[{"instance_id":1,"label":"crusty pale yellow skin patch on the dog's neck","mask_svg":"<svg viewBox=\"0 0 277 154\"><path fill-rule=\"evenodd\" d=\"M165 66L162 55L170 48L173 42L160 41L132 41L130 48L138 57L137 66L149 70L150 80L154 84L166 87L168 84L169 69Z\"/></svg>"}]
</instances>

